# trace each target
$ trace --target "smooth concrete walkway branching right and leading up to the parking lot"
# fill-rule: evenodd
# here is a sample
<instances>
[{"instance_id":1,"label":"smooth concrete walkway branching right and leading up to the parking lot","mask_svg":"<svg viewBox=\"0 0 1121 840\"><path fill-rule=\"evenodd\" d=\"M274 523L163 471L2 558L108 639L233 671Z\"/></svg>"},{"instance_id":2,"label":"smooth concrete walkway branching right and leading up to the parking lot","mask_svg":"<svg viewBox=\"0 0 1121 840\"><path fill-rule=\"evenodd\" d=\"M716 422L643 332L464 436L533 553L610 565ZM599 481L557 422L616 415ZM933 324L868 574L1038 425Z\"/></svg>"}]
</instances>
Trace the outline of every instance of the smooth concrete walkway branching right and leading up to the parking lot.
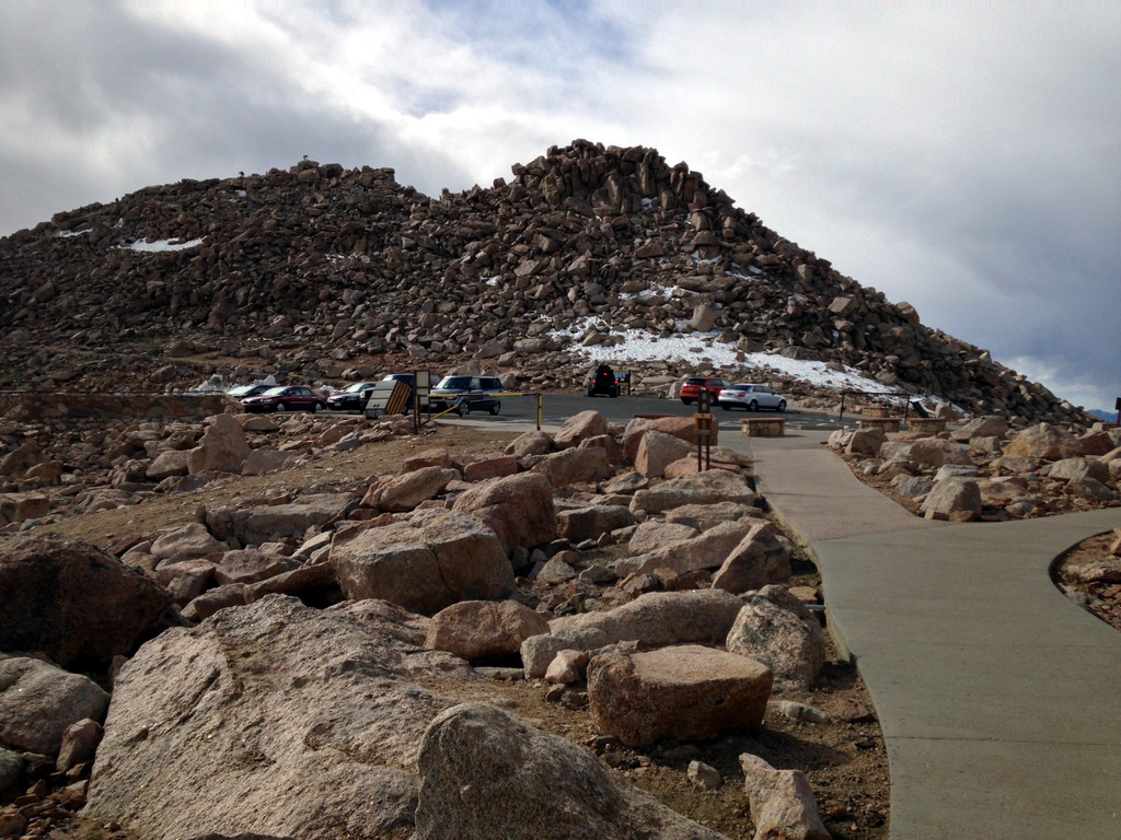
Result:
<instances>
[{"instance_id":1,"label":"smooth concrete walkway branching right and leading up to the parking lot","mask_svg":"<svg viewBox=\"0 0 1121 840\"><path fill-rule=\"evenodd\" d=\"M1121 508L933 523L856 479L826 433L724 435L816 556L830 628L883 728L893 840L1121 838L1121 633L1050 562Z\"/></svg>"}]
</instances>

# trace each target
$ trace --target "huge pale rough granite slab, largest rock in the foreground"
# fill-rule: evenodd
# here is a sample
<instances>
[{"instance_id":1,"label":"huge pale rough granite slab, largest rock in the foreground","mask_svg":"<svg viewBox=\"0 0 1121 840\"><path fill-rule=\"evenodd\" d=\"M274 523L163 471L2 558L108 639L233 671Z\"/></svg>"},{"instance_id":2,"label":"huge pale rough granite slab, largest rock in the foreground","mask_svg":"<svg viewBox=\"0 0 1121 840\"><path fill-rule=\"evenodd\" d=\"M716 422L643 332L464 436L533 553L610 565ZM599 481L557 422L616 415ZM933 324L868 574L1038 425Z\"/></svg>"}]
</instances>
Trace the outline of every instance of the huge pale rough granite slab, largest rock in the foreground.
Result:
<instances>
[{"instance_id":1,"label":"huge pale rough granite slab, largest rock in the foreground","mask_svg":"<svg viewBox=\"0 0 1121 840\"><path fill-rule=\"evenodd\" d=\"M165 633L117 678L86 814L152 840L407 830L420 737L451 706L409 681L471 673L420 638L380 601L279 596Z\"/></svg>"}]
</instances>

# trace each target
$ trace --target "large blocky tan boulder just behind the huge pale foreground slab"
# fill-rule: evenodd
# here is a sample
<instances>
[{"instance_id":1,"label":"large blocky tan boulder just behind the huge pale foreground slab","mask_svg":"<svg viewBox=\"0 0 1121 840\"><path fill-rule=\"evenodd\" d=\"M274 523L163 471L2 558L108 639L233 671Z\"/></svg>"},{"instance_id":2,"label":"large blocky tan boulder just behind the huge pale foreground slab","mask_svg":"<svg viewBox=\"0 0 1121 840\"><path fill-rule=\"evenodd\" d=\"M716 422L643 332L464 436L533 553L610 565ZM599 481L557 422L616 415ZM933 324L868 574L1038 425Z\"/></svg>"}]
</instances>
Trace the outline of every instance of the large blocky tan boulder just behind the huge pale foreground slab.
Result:
<instances>
[{"instance_id":1,"label":"large blocky tan boulder just behind the huge pale foreground slab","mask_svg":"<svg viewBox=\"0 0 1121 840\"><path fill-rule=\"evenodd\" d=\"M348 598L381 598L424 615L513 591L513 568L494 532L456 511L341 531L331 566Z\"/></svg>"}]
</instances>

